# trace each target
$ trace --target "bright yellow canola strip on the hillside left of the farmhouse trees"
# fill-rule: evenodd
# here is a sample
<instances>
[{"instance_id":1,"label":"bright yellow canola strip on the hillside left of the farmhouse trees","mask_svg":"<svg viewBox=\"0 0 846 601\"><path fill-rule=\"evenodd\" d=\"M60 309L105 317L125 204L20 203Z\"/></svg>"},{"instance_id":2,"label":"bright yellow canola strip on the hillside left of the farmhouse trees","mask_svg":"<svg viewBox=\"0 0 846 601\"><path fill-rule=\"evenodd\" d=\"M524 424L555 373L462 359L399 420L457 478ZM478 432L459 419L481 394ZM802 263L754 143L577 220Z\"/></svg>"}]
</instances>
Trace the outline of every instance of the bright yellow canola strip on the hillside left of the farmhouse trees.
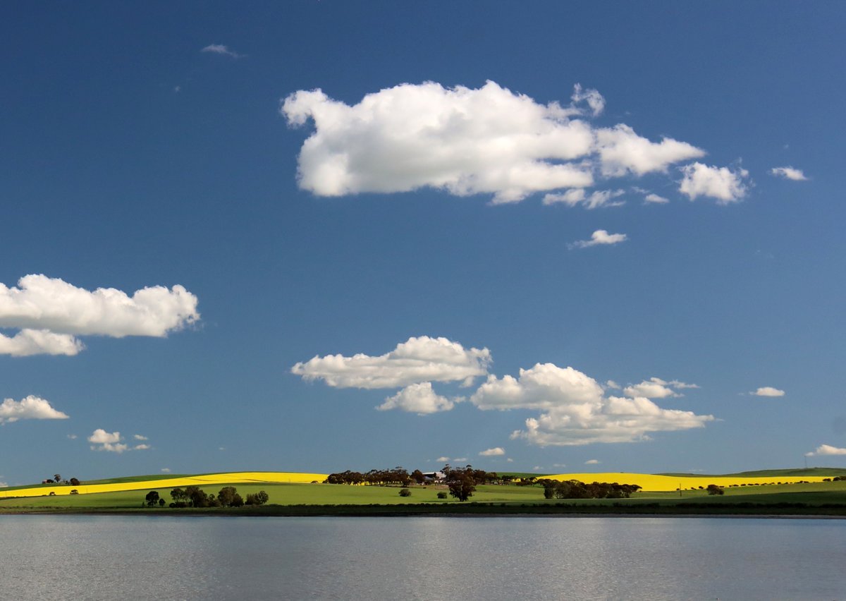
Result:
<instances>
[{"instance_id":1,"label":"bright yellow canola strip on the hillside left of the farmhouse trees","mask_svg":"<svg viewBox=\"0 0 846 601\"><path fill-rule=\"evenodd\" d=\"M16 488L4 490L0 488L0 499L4 497L40 497L51 492L70 494L77 490L80 494L116 493L124 490L151 490L152 488L178 488L203 486L206 484L261 484L263 482L323 482L327 474L303 474L295 471L228 471L220 474L206 474L203 476L188 476L176 478L158 478L139 482L112 482L108 484L85 484L70 486L39 486L35 488Z\"/></svg>"}]
</instances>

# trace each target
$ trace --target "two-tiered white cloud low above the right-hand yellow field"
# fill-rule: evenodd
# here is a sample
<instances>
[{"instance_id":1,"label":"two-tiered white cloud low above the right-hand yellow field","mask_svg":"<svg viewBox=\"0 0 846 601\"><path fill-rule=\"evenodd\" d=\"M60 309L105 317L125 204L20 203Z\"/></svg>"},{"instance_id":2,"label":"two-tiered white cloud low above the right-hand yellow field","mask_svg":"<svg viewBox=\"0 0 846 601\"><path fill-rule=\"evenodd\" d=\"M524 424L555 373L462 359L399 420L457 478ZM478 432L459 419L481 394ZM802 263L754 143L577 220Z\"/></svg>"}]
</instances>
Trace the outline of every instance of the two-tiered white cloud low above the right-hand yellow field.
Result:
<instances>
[{"instance_id":1,"label":"two-tiered white cloud low above the right-hand yellow field","mask_svg":"<svg viewBox=\"0 0 846 601\"><path fill-rule=\"evenodd\" d=\"M645 397L605 396L593 378L552 363L521 369L519 378L489 376L470 402L483 410L541 411L511 438L540 446L648 440L646 433L703 427L713 416L662 409Z\"/></svg>"}]
</instances>

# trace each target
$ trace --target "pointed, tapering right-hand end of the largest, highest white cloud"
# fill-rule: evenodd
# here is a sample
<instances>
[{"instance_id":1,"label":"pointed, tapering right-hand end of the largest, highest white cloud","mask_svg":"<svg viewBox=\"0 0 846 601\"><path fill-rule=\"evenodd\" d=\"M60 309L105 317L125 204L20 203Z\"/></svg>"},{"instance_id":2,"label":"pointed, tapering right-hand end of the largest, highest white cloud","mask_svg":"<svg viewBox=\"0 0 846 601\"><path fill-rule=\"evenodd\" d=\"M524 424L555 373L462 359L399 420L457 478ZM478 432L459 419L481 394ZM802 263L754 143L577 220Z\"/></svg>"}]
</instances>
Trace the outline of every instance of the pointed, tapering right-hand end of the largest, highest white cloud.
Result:
<instances>
[{"instance_id":1,"label":"pointed, tapering right-hand end of the largest, highest white cloud","mask_svg":"<svg viewBox=\"0 0 846 601\"><path fill-rule=\"evenodd\" d=\"M705 151L687 142L663 138L651 142L634 133L628 125L596 130L596 141L602 161L602 174L621 176L644 175L667 171L673 163L705 156Z\"/></svg>"}]
</instances>

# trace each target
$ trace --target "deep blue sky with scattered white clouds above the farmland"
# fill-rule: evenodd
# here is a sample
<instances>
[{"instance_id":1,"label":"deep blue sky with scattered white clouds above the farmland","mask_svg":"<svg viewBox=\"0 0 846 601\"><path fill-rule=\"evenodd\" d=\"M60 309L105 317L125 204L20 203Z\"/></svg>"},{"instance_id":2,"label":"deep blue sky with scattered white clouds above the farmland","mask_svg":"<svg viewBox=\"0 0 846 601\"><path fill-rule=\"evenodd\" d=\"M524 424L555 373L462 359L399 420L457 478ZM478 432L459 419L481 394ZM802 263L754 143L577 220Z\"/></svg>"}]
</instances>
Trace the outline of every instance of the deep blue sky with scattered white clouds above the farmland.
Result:
<instances>
[{"instance_id":1,"label":"deep blue sky with scattered white clouds above the farmland","mask_svg":"<svg viewBox=\"0 0 846 601\"><path fill-rule=\"evenodd\" d=\"M0 482L843 465L844 25L5 8Z\"/></svg>"}]
</instances>

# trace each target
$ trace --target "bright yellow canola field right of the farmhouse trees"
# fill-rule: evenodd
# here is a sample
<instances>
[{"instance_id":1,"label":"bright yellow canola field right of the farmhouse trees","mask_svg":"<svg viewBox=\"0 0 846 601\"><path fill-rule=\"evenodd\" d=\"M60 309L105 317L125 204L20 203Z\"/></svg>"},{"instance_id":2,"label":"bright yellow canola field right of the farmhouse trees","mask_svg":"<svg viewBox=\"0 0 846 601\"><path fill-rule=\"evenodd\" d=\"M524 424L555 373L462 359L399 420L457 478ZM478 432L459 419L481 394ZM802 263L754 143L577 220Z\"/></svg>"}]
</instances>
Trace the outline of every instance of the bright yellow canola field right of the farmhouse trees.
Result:
<instances>
[{"instance_id":1,"label":"bright yellow canola field right of the farmhouse trees","mask_svg":"<svg viewBox=\"0 0 846 601\"><path fill-rule=\"evenodd\" d=\"M822 482L822 476L766 476L766 477L734 477L734 476L655 476L653 474L628 474L623 472L607 472L599 474L556 474L544 476L550 480L578 480L590 484L591 482L617 482L618 484L637 484L643 490L666 491L678 488L706 488L708 484L728 487L732 484L759 486L761 484L792 484L795 482Z\"/></svg>"}]
</instances>

